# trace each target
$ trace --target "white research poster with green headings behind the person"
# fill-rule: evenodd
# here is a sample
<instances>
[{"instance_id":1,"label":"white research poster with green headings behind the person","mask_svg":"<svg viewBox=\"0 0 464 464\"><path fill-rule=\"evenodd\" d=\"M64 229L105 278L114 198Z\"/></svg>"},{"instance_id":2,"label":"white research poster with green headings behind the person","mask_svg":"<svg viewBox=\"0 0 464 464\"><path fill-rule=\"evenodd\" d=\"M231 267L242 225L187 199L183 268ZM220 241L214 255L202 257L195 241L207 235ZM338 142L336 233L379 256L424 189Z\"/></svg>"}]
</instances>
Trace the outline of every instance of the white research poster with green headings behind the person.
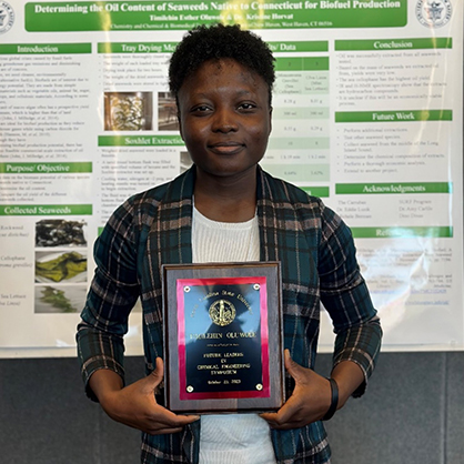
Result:
<instances>
[{"instance_id":1,"label":"white research poster with green headings behind the person","mask_svg":"<svg viewBox=\"0 0 464 464\"><path fill-rule=\"evenodd\" d=\"M351 226L383 350L463 350L461 0L0 0L0 356L74 355L105 221L191 165L168 61L219 21L272 48L261 164Z\"/></svg>"}]
</instances>

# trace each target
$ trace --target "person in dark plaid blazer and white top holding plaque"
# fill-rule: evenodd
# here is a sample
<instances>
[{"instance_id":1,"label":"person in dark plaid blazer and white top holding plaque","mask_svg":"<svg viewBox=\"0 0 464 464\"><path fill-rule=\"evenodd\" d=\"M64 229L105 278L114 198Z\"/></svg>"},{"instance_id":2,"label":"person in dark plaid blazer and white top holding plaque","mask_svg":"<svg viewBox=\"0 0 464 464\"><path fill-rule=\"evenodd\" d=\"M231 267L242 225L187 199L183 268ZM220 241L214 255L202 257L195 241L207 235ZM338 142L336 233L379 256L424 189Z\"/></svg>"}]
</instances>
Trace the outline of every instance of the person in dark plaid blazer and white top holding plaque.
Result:
<instances>
[{"instance_id":1,"label":"person in dark plaid blazer and white top holding plaque","mask_svg":"<svg viewBox=\"0 0 464 464\"><path fill-rule=\"evenodd\" d=\"M143 431L142 463L329 463L321 420L365 389L382 331L349 228L320 199L259 167L271 133L273 57L239 27L189 32L170 87L193 167L134 195L109 220L78 331L88 394ZM175 415L163 379L164 263L280 261L288 401L275 413ZM123 335L141 297L149 375L123 381ZM337 334L331 380L312 367L320 303Z\"/></svg>"}]
</instances>

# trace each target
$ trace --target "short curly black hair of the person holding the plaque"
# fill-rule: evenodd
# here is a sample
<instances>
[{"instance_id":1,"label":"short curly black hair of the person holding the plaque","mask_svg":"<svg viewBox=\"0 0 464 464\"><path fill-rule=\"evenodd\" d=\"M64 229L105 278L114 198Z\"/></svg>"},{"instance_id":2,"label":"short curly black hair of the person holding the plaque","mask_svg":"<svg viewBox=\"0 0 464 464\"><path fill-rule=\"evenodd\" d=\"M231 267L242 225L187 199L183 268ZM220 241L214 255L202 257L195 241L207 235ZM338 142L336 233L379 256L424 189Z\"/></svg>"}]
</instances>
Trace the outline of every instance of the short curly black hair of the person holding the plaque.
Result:
<instances>
[{"instance_id":1,"label":"short curly black hair of the person holding the plaque","mask_svg":"<svg viewBox=\"0 0 464 464\"><path fill-rule=\"evenodd\" d=\"M178 100L185 79L204 62L230 58L254 71L269 87L269 104L275 80L274 57L268 44L256 34L244 31L239 24L199 26L184 36L171 57L169 88Z\"/></svg>"}]
</instances>

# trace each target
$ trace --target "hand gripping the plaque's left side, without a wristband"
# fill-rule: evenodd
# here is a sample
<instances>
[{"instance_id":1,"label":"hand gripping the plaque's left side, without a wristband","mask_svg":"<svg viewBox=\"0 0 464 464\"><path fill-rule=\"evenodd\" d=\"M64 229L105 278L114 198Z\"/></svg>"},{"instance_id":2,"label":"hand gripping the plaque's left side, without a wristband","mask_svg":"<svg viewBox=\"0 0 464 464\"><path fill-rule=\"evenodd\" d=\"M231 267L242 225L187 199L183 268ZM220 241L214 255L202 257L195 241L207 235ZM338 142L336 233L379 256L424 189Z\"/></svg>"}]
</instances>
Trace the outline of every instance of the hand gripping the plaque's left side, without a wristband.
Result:
<instances>
[{"instance_id":1,"label":"hand gripping the plaque's left side, without a wristband","mask_svg":"<svg viewBox=\"0 0 464 464\"><path fill-rule=\"evenodd\" d=\"M150 435L181 432L185 425L198 421L200 416L176 415L157 403L154 392L163 375L163 361L157 357L157 369L131 385L123 387L120 375L105 369L95 371L89 385L103 411L112 420Z\"/></svg>"}]
</instances>

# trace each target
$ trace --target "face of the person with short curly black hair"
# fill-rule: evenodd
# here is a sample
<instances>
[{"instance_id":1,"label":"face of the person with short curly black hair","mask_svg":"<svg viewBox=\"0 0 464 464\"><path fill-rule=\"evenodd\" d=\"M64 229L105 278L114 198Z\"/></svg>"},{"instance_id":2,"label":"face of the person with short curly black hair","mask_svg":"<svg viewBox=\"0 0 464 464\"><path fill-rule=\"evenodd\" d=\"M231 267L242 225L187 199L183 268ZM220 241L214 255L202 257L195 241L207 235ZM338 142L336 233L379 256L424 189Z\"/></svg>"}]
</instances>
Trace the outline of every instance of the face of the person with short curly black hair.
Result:
<instances>
[{"instance_id":1,"label":"face of the person with short curly black hair","mask_svg":"<svg viewBox=\"0 0 464 464\"><path fill-rule=\"evenodd\" d=\"M181 87L180 131L196 169L233 176L255 169L271 133L269 88L235 60L206 61Z\"/></svg>"}]
</instances>

